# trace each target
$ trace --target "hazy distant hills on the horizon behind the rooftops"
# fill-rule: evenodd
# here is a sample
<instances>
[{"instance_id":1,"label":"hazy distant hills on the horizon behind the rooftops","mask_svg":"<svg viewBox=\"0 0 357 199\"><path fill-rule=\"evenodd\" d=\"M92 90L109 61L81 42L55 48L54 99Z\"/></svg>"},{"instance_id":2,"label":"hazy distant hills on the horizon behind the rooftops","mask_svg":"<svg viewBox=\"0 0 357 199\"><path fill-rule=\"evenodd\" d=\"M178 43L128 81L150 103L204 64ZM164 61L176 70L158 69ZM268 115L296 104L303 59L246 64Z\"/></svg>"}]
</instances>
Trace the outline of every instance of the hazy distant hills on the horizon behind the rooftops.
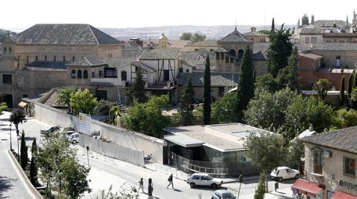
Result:
<instances>
[{"instance_id":1,"label":"hazy distant hills on the horizon behind the rooftops","mask_svg":"<svg viewBox=\"0 0 357 199\"><path fill-rule=\"evenodd\" d=\"M285 28L291 28L294 25L285 25ZM238 31L241 33L250 32L252 26L237 26ZM258 30L267 29L270 30L270 25L265 28L262 25L255 26ZM275 27L279 28L280 25ZM103 32L119 39L119 40L129 40L129 38L139 37L145 40L145 27L141 28L99 28ZM179 39L183 32L198 32L205 34L207 39L220 39L228 33L234 30L234 26L157 26L157 27L146 27L146 37L149 38L159 38L161 33L165 33L165 36L169 39Z\"/></svg>"}]
</instances>

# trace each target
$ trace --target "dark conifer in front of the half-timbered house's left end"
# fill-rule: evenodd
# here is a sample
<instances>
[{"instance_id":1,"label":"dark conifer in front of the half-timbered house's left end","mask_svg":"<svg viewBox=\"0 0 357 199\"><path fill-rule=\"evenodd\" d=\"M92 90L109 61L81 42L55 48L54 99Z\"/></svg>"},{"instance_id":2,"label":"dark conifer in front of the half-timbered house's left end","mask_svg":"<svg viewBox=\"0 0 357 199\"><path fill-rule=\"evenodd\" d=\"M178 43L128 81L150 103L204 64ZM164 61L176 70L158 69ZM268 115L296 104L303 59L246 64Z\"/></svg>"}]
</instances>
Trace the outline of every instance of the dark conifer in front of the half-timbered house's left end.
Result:
<instances>
[{"instance_id":1,"label":"dark conifer in front of the half-timbered house's left end","mask_svg":"<svg viewBox=\"0 0 357 199\"><path fill-rule=\"evenodd\" d=\"M137 99L139 103L144 103L148 99L145 95L145 80L142 79L142 70L140 68L136 71L136 78L131 84L127 93L127 98L128 103L131 105L134 103L134 99Z\"/></svg>"}]
</instances>

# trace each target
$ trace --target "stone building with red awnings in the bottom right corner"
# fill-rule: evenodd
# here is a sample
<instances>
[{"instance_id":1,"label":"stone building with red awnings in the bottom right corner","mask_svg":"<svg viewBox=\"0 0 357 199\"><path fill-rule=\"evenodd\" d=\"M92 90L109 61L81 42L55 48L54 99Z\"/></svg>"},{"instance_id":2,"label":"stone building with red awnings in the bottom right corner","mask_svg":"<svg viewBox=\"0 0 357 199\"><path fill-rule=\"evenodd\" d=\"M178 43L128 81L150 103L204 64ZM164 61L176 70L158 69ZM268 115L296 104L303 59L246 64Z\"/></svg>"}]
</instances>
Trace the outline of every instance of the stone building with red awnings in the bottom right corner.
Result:
<instances>
[{"instance_id":1,"label":"stone building with red awnings in the bottom right corner","mask_svg":"<svg viewBox=\"0 0 357 199\"><path fill-rule=\"evenodd\" d=\"M305 142L305 180L293 193L305 198L356 199L357 126L302 138Z\"/></svg>"}]
</instances>

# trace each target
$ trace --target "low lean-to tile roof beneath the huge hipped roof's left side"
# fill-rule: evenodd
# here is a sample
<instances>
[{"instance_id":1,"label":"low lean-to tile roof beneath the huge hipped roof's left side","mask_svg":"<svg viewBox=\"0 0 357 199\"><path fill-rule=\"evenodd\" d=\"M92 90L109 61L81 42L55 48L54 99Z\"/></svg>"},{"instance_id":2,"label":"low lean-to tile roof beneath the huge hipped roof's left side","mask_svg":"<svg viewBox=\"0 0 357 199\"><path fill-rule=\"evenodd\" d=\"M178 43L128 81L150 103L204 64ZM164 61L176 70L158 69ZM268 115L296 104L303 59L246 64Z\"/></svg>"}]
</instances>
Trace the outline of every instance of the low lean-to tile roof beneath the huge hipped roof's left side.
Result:
<instances>
[{"instance_id":1,"label":"low lean-to tile roof beneath the huge hipped roof's left side","mask_svg":"<svg viewBox=\"0 0 357 199\"><path fill-rule=\"evenodd\" d=\"M27 64L27 66L25 66L25 70L48 70L48 71L66 71L67 70L67 66L66 66L67 62L46 62L46 61L34 61L31 62L29 64Z\"/></svg>"}]
</instances>

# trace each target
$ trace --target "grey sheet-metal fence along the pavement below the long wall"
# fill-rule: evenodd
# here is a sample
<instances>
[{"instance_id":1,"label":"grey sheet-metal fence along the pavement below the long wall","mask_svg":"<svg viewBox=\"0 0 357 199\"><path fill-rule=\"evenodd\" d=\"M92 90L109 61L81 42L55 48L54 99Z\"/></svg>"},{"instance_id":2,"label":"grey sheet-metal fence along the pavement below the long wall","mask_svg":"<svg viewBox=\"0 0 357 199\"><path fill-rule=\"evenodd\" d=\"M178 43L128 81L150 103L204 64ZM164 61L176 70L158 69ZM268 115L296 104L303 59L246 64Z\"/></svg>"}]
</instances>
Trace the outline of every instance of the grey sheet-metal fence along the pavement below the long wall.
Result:
<instances>
[{"instance_id":1,"label":"grey sheet-metal fence along the pavement below the long wall","mask_svg":"<svg viewBox=\"0 0 357 199\"><path fill-rule=\"evenodd\" d=\"M102 140L89 137L87 135L79 134L79 145L90 151L100 153L107 157L119 159L140 167L145 167L144 152L136 151L131 148L119 146L115 143L107 143Z\"/></svg>"}]
</instances>

